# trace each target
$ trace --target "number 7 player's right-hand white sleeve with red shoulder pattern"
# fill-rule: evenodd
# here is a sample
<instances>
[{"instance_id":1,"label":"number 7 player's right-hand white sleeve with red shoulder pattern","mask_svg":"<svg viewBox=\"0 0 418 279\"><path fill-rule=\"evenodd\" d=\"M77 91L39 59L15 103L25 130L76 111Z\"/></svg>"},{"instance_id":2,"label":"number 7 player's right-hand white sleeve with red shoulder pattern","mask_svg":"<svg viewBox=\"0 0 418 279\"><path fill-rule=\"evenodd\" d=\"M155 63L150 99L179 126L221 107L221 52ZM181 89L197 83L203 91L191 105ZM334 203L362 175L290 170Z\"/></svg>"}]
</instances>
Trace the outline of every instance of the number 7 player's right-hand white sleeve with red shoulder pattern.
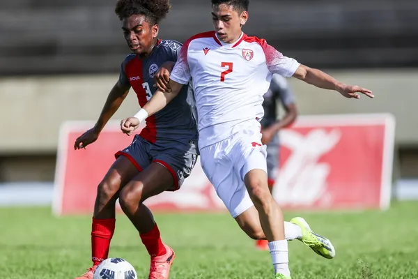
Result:
<instances>
[{"instance_id":1,"label":"number 7 player's right-hand white sleeve with red shoulder pattern","mask_svg":"<svg viewBox=\"0 0 418 279\"><path fill-rule=\"evenodd\" d=\"M261 44L265 54L265 61L267 63L268 70L271 73L279 74L284 77L291 77L295 74L300 63L293 58L289 58L281 54L271 45L263 41Z\"/></svg>"}]
</instances>

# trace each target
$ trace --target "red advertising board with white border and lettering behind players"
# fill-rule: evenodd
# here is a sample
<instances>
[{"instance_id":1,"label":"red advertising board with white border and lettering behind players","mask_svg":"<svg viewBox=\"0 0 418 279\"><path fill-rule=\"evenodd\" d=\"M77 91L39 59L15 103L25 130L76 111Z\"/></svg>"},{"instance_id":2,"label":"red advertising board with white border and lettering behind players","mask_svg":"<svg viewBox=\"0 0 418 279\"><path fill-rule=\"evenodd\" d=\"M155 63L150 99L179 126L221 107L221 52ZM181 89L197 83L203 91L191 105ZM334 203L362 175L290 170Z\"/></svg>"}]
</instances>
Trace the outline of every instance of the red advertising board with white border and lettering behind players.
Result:
<instances>
[{"instance_id":1,"label":"red advertising board with white border and lettering behind players","mask_svg":"<svg viewBox=\"0 0 418 279\"><path fill-rule=\"evenodd\" d=\"M93 123L61 127L54 213L92 213L98 183L114 153L132 142L118 121L97 142L75 151L74 142ZM280 132L280 168L274 198L284 209L387 209L392 186L395 121L389 114L300 116ZM182 188L146 201L155 211L224 211L196 163Z\"/></svg>"}]
</instances>

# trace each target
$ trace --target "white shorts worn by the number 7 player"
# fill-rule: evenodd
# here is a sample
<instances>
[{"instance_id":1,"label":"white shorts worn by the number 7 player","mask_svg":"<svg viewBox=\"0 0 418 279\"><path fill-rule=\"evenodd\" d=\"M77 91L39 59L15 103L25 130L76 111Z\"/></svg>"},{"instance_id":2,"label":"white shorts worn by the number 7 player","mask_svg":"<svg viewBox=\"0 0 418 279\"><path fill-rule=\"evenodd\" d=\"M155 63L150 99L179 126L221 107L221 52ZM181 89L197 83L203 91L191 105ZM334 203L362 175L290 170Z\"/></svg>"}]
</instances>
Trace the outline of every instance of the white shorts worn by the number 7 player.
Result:
<instances>
[{"instance_id":1,"label":"white shorts worn by the number 7 player","mask_svg":"<svg viewBox=\"0 0 418 279\"><path fill-rule=\"evenodd\" d=\"M203 172L233 218L254 205L245 187L245 174L251 169L267 173L260 123L254 120L239 126L235 126L237 133L200 150Z\"/></svg>"}]
</instances>

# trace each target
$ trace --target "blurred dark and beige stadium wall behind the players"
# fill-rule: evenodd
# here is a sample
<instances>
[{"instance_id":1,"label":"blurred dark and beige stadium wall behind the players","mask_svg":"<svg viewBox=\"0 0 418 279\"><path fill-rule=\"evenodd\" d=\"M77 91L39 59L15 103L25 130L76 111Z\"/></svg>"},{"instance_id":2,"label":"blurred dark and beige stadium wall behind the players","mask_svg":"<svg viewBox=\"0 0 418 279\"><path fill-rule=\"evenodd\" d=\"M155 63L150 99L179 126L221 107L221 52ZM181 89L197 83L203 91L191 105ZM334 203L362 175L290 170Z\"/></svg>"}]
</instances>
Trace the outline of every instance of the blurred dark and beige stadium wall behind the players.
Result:
<instances>
[{"instance_id":1,"label":"blurred dark and beige stadium wall behind the players","mask_svg":"<svg viewBox=\"0 0 418 279\"><path fill-rule=\"evenodd\" d=\"M52 183L60 124L98 117L129 52L115 3L0 1L0 183ZM184 42L212 29L210 1L171 3L160 38ZM376 99L354 101L291 80L301 114L394 114L395 182L415 181L417 14L416 0L253 0L244 30L301 63L372 89ZM115 117L136 110L131 93Z\"/></svg>"}]
</instances>

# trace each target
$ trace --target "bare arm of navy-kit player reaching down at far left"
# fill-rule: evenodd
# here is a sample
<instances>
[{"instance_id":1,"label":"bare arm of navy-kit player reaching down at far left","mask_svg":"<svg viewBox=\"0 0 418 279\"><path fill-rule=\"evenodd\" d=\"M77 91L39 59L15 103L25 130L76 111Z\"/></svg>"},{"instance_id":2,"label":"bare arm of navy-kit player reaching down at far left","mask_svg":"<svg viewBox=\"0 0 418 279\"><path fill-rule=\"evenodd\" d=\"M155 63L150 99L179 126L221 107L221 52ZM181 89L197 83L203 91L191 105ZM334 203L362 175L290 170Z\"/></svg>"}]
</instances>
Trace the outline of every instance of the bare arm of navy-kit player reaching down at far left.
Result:
<instances>
[{"instance_id":1,"label":"bare arm of navy-kit player reaching down at far left","mask_svg":"<svg viewBox=\"0 0 418 279\"><path fill-rule=\"evenodd\" d=\"M122 84L120 81L116 82L111 89L109 96L107 96L106 103L102 108L98 121L95 126L86 133L81 135L75 140L74 149L82 149L95 142L106 123L111 119L111 116L115 114L119 107L121 107L123 100L125 100L130 86Z\"/></svg>"}]
</instances>

